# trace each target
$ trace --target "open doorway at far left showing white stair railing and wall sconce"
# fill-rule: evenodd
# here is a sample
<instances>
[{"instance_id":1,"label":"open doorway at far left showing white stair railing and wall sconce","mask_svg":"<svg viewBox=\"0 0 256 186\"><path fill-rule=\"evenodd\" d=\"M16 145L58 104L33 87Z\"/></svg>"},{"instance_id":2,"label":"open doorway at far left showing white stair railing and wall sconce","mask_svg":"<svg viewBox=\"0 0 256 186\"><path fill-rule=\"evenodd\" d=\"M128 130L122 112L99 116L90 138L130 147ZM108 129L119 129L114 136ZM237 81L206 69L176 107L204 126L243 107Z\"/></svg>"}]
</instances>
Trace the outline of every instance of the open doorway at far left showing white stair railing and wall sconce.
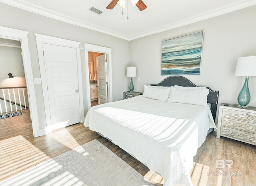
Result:
<instances>
[{"instance_id":1,"label":"open doorway at far left showing white stair railing and wall sconce","mask_svg":"<svg viewBox=\"0 0 256 186\"><path fill-rule=\"evenodd\" d=\"M0 38L0 61L0 118L20 116L29 108L20 41Z\"/></svg>"}]
</instances>

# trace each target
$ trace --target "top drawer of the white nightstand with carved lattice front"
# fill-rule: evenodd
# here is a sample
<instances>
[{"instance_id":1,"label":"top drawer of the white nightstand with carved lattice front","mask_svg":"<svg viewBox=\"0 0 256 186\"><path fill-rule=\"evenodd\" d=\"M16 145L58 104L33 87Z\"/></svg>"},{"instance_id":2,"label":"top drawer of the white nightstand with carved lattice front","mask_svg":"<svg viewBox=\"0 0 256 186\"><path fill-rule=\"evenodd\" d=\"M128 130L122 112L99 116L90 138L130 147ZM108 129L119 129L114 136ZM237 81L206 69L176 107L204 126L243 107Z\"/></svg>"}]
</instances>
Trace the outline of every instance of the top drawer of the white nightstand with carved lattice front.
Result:
<instances>
[{"instance_id":1,"label":"top drawer of the white nightstand with carved lattice front","mask_svg":"<svg viewBox=\"0 0 256 186\"><path fill-rule=\"evenodd\" d=\"M238 110L223 109L222 117L256 123L256 114L247 112L246 110L242 112Z\"/></svg>"}]
</instances>

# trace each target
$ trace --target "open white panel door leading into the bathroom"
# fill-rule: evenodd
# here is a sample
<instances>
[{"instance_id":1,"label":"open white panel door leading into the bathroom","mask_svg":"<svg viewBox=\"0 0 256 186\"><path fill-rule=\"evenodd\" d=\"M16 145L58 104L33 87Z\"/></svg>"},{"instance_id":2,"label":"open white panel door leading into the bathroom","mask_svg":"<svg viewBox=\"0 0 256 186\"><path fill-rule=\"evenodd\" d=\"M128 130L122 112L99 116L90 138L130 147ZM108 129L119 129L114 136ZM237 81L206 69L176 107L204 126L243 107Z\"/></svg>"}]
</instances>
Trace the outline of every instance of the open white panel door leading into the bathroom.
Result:
<instances>
[{"instance_id":1,"label":"open white panel door leading into the bathroom","mask_svg":"<svg viewBox=\"0 0 256 186\"><path fill-rule=\"evenodd\" d=\"M98 79L98 104L108 102L108 64L106 63L106 55L96 57L97 79Z\"/></svg>"}]
</instances>

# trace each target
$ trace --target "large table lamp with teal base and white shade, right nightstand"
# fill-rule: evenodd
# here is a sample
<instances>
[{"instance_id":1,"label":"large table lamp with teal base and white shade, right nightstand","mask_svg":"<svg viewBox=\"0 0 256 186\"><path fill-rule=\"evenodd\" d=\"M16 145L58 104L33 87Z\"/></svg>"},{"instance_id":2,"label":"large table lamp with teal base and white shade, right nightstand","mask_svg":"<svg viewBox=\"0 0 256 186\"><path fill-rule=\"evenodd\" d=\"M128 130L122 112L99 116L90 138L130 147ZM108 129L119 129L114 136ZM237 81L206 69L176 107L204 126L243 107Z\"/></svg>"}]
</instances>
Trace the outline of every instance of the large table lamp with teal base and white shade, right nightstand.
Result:
<instances>
[{"instance_id":1,"label":"large table lamp with teal base and white shade, right nightstand","mask_svg":"<svg viewBox=\"0 0 256 186\"><path fill-rule=\"evenodd\" d=\"M238 94L238 108L248 108L251 100L248 87L249 76L256 76L256 56L240 57L237 60L235 76L246 76L244 86Z\"/></svg>"}]
</instances>

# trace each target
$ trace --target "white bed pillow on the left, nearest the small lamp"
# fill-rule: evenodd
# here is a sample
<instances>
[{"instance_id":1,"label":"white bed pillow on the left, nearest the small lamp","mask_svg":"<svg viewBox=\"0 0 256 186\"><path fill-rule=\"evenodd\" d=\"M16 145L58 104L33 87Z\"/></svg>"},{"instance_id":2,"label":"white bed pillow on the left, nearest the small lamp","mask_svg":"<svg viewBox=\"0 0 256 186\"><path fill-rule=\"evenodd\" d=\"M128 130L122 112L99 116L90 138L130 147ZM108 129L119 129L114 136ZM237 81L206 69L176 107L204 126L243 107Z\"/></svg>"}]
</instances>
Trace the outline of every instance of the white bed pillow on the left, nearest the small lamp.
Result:
<instances>
[{"instance_id":1,"label":"white bed pillow on the left, nearest the small lamp","mask_svg":"<svg viewBox=\"0 0 256 186\"><path fill-rule=\"evenodd\" d=\"M144 85L144 92L142 96L166 102L170 95L170 90L170 88L155 88L153 86Z\"/></svg>"}]
</instances>

